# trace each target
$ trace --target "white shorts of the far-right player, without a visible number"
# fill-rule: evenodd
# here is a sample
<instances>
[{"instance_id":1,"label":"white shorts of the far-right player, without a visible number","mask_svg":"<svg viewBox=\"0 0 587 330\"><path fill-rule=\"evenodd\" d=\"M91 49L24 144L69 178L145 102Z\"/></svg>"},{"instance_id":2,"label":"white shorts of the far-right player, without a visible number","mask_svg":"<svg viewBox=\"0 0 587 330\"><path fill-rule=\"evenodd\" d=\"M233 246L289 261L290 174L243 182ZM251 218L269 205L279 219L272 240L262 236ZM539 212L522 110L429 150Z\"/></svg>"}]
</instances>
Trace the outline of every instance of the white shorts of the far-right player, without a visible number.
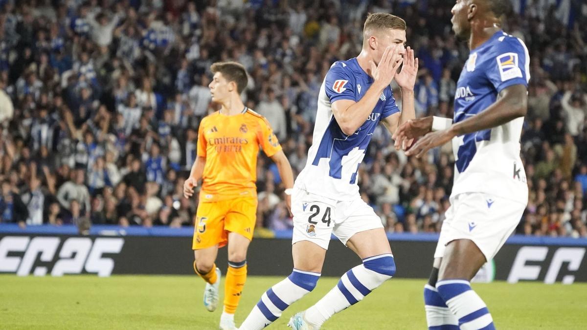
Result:
<instances>
[{"instance_id":1,"label":"white shorts of the far-right player, without a visible number","mask_svg":"<svg viewBox=\"0 0 587 330\"><path fill-rule=\"evenodd\" d=\"M490 194L458 194L446 211L434 258L444 257L451 241L466 239L491 260L517 227L525 208L525 204Z\"/></svg>"}]
</instances>

